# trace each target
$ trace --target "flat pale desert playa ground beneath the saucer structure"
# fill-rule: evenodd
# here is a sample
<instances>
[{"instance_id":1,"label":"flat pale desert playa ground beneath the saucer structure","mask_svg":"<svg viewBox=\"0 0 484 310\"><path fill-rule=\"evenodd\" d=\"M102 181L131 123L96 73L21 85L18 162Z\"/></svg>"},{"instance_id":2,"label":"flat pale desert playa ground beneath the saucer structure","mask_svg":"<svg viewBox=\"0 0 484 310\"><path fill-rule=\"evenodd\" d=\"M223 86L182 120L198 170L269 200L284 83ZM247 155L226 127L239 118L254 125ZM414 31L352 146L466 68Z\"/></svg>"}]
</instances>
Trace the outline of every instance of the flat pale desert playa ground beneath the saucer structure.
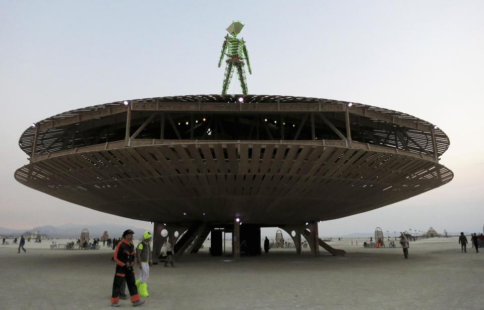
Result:
<instances>
[{"instance_id":1,"label":"flat pale desert playa ground beneath the saucer structure","mask_svg":"<svg viewBox=\"0 0 484 310\"><path fill-rule=\"evenodd\" d=\"M145 309L482 309L484 250L462 254L457 237L402 250L332 241L345 257L272 250L260 257L211 257L207 247L175 268L150 270ZM0 308L109 309L112 250L48 250L49 241L0 245ZM131 307L122 300L122 307Z\"/></svg>"}]
</instances>

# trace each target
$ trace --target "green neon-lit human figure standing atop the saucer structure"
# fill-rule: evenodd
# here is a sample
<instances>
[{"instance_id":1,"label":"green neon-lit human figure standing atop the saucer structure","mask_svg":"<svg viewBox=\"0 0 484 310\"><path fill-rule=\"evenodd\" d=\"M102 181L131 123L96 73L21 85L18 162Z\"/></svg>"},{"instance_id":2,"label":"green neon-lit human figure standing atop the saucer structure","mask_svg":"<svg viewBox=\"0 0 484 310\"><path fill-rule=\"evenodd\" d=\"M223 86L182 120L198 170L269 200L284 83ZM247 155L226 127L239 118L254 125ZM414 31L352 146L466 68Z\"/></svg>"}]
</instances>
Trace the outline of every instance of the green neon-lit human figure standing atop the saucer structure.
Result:
<instances>
[{"instance_id":1,"label":"green neon-lit human figure standing atop the saucer structure","mask_svg":"<svg viewBox=\"0 0 484 310\"><path fill-rule=\"evenodd\" d=\"M239 21L232 21L230 26L227 28L227 32L230 34L225 36L225 41L223 41L222 52L220 53L220 59L218 61L218 68L222 65L223 55L227 55L227 60L225 61L227 65L225 66L225 75L223 78L222 85L222 95L227 94L228 86L230 85L230 80L233 75L233 67L237 67L238 80L240 81L240 87L244 95L248 94L246 72L244 69L244 60L247 61L247 68L249 73L252 74L251 63L249 62L249 52L247 51L246 41L244 38L237 38L237 34L240 33L244 25Z\"/></svg>"}]
</instances>

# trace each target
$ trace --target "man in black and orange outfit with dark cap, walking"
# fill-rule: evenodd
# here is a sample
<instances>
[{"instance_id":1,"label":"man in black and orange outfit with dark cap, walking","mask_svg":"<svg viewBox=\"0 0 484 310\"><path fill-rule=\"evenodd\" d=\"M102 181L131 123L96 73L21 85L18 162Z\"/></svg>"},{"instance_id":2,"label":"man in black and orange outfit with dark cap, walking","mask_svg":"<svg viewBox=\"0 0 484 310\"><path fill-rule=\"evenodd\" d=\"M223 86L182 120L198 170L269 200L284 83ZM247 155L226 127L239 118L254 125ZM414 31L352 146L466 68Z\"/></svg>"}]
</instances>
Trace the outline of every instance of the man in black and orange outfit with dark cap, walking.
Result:
<instances>
[{"instance_id":1,"label":"man in black and orange outfit with dark cap, walking","mask_svg":"<svg viewBox=\"0 0 484 310\"><path fill-rule=\"evenodd\" d=\"M139 306L145 303L141 300L138 294L135 281L135 271L133 266L135 265L135 246L133 245L134 231L131 229L123 232L123 239L116 245L114 251L114 262L116 262L116 274L112 283L111 293L111 306L118 307L119 304L119 289L123 283L123 279L126 280L126 285L131 295L131 302L133 306Z\"/></svg>"}]
</instances>

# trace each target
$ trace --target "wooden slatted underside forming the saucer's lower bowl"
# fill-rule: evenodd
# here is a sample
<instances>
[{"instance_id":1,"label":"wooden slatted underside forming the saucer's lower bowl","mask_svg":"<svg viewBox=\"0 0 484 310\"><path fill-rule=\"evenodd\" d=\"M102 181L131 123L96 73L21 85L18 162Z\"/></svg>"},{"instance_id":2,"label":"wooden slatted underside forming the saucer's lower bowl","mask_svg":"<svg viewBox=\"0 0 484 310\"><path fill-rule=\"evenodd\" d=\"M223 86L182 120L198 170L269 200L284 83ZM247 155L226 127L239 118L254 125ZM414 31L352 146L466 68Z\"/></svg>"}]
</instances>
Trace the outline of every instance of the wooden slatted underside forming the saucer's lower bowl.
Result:
<instances>
[{"instance_id":1,"label":"wooden slatted underside forming the saucer's lower bowl","mask_svg":"<svg viewBox=\"0 0 484 310\"><path fill-rule=\"evenodd\" d=\"M190 164L198 166L200 162L203 165L205 163L200 158L197 164L193 158L199 154L198 149L197 152L190 151L184 156L181 150L187 152L189 146L181 145L167 149L172 152L170 155L172 160L185 167L184 170L180 170L181 174L176 171L168 173L162 168L158 158L166 161L165 157L170 157L156 153L156 149L161 146L146 146L54 157L19 169L16 172L16 178L29 187L66 201L93 209L101 208L105 212L114 213L112 210L116 210L115 214L118 215L126 214L134 218L141 216L138 219L143 220L151 220L160 214L173 220L174 217L179 216L178 213L183 212L181 209L188 210L189 213L199 212L203 205L204 209L217 213L214 217L232 219L234 212L245 210L248 217L258 217L259 219L255 221L263 222L266 220L291 221L297 217L300 220L312 217L324 220L358 213L361 210L372 210L389 202L426 192L452 178L450 170L432 161L418 158L410 160L410 157L402 154L311 145L304 145L302 151L298 153L299 156L294 156L294 165L300 161L302 169L298 168L297 174L288 174L285 167L286 160L292 160L292 149L298 149L299 144L273 143L272 145L277 147L275 157L278 152L285 153L284 148L289 148L287 156L280 159L281 170L275 169L277 171L255 175L238 174L236 177L240 176L240 178L237 181L234 181L235 175L232 173L216 173L215 178L215 174L207 176L202 172L199 173L201 169L198 167L197 173L191 173L191 169L188 168ZM265 151L262 144L260 148ZM302 156L305 154L305 149L312 151ZM365 156L358 157L360 153L364 153ZM272 152L270 155L272 158ZM256 152L253 156L257 157ZM313 156L315 157L312 160ZM122 160L123 164L120 164L116 158ZM332 160L334 160L333 163L331 163ZM359 165L354 164L357 161L360 161ZM312 165L305 172L305 165L308 162L312 162ZM272 159L269 163L274 165ZM252 167L252 162L250 164ZM230 166L230 162L228 165ZM168 161L168 166L171 166L171 160ZM327 177L321 176L324 175L325 166L331 166L332 170L335 166L339 167L332 177ZM436 168L431 169L432 167ZM444 175L445 181L442 176L439 177L437 169ZM169 177L162 176L159 172ZM30 179L25 177L29 173L32 175ZM379 178L376 178L376 175ZM406 176L411 177L406 178ZM203 190L198 190L203 188L201 180L204 178L208 187L215 188L216 195L214 192L209 193L209 197L213 199L203 198L207 196L204 196ZM165 182L167 182L166 185ZM367 187L364 188L365 184ZM114 187L114 185L117 186ZM392 188L383 191L389 185L392 185ZM416 185L419 186L415 187ZM87 191L78 189L78 186ZM229 193L230 189L234 189L233 194ZM236 191L238 193L235 193ZM222 201L220 195L224 197L226 208L213 205ZM248 199L249 197L253 200ZM164 204L163 208L171 211L158 210L160 203ZM134 210L142 208L151 215L133 214L131 205L136 206ZM270 219L265 218L267 214L271 214ZM281 216L278 217L277 214Z\"/></svg>"}]
</instances>

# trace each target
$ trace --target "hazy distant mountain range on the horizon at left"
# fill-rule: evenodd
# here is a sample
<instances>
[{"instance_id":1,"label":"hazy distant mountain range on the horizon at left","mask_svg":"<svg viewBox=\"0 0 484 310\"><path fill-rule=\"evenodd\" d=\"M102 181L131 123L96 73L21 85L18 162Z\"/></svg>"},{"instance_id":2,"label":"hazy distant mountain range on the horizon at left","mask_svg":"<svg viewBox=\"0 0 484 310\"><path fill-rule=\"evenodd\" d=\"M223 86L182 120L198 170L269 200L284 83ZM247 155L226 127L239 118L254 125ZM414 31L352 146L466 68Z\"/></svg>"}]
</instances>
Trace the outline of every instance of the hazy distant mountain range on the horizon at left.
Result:
<instances>
[{"instance_id":1,"label":"hazy distant mountain range on the horizon at left","mask_svg":"<svg viewBox=\"0 0 484 310\"><path fill-rule=\"evenodd\" d=\"M117 224L95 224L95 225L78 225L78 224L65 224L60 226L39 226L32 229L10 229L0 227L0 236L20 236L21 234L30 235L36 231L39 231L42 235L47 235L54 238L79 238L81 231L87 228L91 238L100 238L102 233L107 230L110 237L119 237L126 229L132 229L136 235L141 235L146 229L140 227L133 227L127 225Z\"/></svg>"}]
</instances>

